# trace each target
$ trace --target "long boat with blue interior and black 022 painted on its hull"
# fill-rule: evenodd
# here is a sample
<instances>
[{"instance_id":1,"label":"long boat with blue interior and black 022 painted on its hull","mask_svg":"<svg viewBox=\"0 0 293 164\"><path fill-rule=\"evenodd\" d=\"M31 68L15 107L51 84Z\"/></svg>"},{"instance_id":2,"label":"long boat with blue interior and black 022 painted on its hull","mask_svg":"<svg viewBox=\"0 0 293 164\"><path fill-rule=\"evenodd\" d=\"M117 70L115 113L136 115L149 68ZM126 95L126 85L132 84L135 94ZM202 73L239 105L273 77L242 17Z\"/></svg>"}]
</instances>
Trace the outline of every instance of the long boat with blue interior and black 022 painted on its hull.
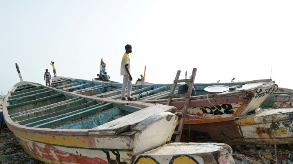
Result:
<instances>
[{"instance_id":1,"label":"long boat with blue interior and black 022 painted on its hull","mask_svg":"<svg viewBox=\"0 0 293 164\"><path fill-rule=\"evenodd\" d=\"M221 93L208 93L204 88L209 86L228 86L229 90ZM89 86L89 87L88 87ZM172 84L139 84L133 85L131 97L138 101L154 104L166 104ZM108 82L95 83L87 80L58 77L54 78L52 87L92 97L120 99L122 84ZM184 122L184 134L181 141L188 142L224 142L229 144L287 144L291 138L283 134L267 138L250 131L247 138L239 119L259 111L261 104L278 88L271 79L234 83L195 83L196 96L192 96ZM176 92L175 92L176 93ZM171 105L182 111L185 98L173 98ZM264 116L265 112L261 112ZM285 115L279 115L288 120ZM268 124L273 123L267 122ZM204 128L203 128L204 127ZM258 129L267 128L267 124L258 124ZM290 134L291 135L291 134Z\"/></svg>"}]
</instances>

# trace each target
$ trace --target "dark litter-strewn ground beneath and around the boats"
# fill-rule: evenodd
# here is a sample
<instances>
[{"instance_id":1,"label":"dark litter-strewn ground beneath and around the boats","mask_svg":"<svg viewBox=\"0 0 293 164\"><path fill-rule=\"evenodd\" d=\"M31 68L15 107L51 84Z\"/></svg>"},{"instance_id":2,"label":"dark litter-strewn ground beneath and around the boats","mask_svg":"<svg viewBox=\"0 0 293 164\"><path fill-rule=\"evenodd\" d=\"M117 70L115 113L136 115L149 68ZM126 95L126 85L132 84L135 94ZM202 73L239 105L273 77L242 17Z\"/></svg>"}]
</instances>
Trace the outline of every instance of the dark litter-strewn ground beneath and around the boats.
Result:
<instances>
[{"instance_id":1,"label":"dark litter-strewn ground beneath and around the boats","mask_svg":"<svg viewBox=\"0 0 293 164\"><path fill-rule=\"evenodd\" d=\"M2 164L46 164L27 154L14 134L2 127L0 134L0 163ZM293 164L293 145L233 146L236 164ZM276 162L277 161L277 162Z\"/></svg>"}]
</instances>

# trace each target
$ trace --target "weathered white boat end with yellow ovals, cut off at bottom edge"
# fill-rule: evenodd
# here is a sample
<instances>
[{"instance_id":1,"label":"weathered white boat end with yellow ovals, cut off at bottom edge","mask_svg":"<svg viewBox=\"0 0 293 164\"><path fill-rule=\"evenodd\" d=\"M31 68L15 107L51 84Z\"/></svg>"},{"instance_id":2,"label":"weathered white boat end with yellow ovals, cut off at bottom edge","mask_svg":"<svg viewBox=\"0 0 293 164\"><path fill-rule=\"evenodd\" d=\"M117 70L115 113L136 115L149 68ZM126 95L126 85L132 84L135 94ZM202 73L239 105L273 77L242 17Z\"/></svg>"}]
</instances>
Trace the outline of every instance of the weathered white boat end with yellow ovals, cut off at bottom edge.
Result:
<instances>
[{"instance_id":1,"label":"weathered white boat end with yellow ovals, cut off at bottom edge","mask_svg":"<svg viewBox=\"0 0 293 164\"><path fill-rule=\"evenodd\" d=\"M184 158L188 156L188 158ZM143 160L139 160L144 158ZM134 164L155 163L234 164L232 149L222 143L171 143L139 154Z\"/></svg>"}]
</instances>

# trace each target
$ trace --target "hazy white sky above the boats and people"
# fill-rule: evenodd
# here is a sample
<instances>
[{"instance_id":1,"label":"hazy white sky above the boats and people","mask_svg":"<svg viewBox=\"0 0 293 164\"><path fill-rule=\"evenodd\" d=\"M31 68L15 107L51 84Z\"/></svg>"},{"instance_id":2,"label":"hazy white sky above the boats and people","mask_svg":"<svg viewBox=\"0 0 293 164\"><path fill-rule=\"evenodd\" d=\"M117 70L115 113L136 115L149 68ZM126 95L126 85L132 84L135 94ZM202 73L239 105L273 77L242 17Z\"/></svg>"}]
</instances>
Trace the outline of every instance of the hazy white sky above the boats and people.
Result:
<instances>
[{"instance_id":1,"label":"hazy white sky above the boats and people","mask_svg":"<svg viewBox=\"0 0 293 164\"><path fill-rule=\"evenodd\" d=\"M19 77L45 85L53 76L91 80L101 57L110 80L122 82L131 44L133 83L172 83L177 70L195 82L270 78L291 83L293 1L0 0L0 92ZM271 72L272 68L272 72Z\"/></svg>"}]
</instances>

